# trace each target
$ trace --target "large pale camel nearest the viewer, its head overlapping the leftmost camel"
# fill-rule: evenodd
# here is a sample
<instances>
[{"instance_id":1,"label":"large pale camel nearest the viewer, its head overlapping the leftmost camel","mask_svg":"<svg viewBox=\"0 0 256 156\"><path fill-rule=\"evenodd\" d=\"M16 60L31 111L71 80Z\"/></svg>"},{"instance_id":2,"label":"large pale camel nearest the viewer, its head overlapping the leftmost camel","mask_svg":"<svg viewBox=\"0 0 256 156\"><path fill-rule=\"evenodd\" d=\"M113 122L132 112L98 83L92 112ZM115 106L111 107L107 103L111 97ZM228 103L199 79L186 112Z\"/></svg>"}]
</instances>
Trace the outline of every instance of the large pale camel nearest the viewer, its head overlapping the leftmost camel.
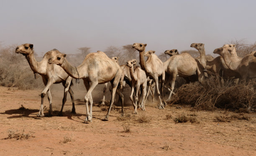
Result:
<instances>
[{"instance_id":1,"label":"large pale camel nearest the viewer, its head overlapping the leftmost camel","mask_svg":"<svg viewBox=\"0 0 256 156\"><path fill-rule=\"evenodd\" d=\"M120 80L123 73L119 64L113 59L110 59L104 52L97 51L95 53L87 54L84 58L82 64L78 67L73 67L65 58L66 54L54 54L53 57L49 59L49 63L57 64L61 66L69 76L75 79L83 79L84 86L87 89L87 94L84 97L84 102L86 103L86 118L84 122L92 121L92 91L97 86L97 84L105 84L110 82L112 85L112 97L110 101L110 106L108 113L104 120L108 120L108 116L115 99L115 92L118 88L118 84L122 84ZM120 85L121 86L121 85ZM123 109L123 93L118 92L122 99L122 111L121 115L124 115ZM88 101L90 102L90 112L88 109Z\"/></svg>"}]
</instances>

